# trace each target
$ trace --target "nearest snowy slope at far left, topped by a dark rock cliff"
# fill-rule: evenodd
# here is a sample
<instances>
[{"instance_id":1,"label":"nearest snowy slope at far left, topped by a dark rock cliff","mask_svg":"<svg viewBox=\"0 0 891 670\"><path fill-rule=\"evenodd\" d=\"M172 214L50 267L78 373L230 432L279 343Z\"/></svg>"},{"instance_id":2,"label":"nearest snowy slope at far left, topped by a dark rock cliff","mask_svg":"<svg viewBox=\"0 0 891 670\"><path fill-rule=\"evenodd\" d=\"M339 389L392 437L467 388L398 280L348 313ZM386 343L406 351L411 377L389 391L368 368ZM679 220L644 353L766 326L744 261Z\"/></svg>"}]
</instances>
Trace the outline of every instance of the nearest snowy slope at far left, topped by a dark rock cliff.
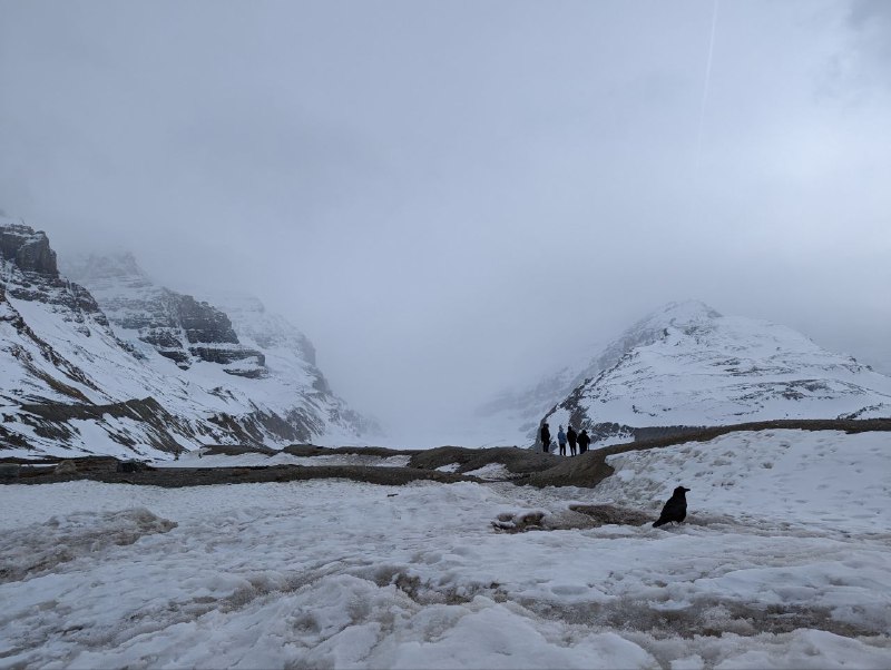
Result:
<instances>
[{"instance_id":1,"label":"nearest snowy slope at far left, topped by a dark rock cliff","mask_svg":"<svg viewBox=\"0 0 891 670\"><path fill-rule=\"evenodd\" d=\"M86 289L59 276L45 234L0 221L0 278L7 454L133 454L197 442L196 426L153 397L176 390L115 337Z\"/></svg>"}]
</instances>

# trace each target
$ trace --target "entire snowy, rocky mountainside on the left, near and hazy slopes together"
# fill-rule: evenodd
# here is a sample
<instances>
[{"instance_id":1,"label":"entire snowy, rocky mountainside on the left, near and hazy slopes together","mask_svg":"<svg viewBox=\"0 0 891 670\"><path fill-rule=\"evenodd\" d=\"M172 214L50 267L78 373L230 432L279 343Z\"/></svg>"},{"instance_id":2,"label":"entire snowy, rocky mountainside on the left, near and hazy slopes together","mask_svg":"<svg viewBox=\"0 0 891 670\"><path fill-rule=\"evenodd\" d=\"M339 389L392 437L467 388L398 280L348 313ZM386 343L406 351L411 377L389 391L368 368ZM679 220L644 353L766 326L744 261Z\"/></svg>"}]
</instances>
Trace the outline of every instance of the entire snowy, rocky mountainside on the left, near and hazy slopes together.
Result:
<instances>
[{"instance_id":1,"label":"entire snowy, rocky mountainside on the left, near and hazy slopes together","mask_svg":"<svg viewBox=\"0 0 891 670\"><path fill-rule=\"evenodd\" d=\"M155 285L131 256L70 269L95 296L59 273L46 234L0 219L8 455L355 443L376 430L332 393L309 339L258 302L233 324Z\"/></svg>"}]
</instances>

